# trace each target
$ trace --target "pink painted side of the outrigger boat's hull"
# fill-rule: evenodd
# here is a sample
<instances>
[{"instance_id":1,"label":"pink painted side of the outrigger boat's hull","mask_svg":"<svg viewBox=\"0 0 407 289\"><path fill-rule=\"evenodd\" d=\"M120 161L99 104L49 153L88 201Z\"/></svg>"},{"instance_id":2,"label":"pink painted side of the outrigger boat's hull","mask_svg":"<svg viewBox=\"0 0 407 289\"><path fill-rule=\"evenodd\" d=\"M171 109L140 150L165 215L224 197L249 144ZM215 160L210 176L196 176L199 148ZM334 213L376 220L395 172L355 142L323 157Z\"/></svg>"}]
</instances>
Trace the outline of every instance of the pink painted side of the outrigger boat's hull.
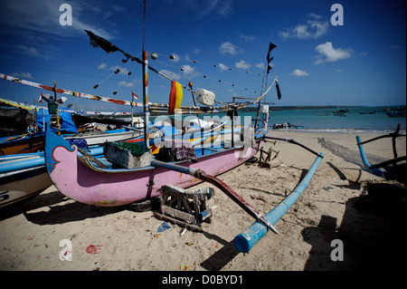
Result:
<instances>
[{"instance_id":1,"label":"pink painted side of the outrigger boat's hull","mask_svg":"<svg viewBox=\"0 0 407 289\"><path fill-rule=\"evenodd\" d=\"M251 159L259 148L228 149L203 156L197 163L177 162L177 165L203 169L207 174L217 176ZM47 164L52 183L63 195L89 205L114 207L131 204L143 199L159 196L159 188L175 185L189 188L202 180L173 170L147 167L136 170L96 169L80 162L77 147L67 149L56 146L52 149L53 163ZM53 169L50 169L53 168Z\"/></svg>"}]
</instances>

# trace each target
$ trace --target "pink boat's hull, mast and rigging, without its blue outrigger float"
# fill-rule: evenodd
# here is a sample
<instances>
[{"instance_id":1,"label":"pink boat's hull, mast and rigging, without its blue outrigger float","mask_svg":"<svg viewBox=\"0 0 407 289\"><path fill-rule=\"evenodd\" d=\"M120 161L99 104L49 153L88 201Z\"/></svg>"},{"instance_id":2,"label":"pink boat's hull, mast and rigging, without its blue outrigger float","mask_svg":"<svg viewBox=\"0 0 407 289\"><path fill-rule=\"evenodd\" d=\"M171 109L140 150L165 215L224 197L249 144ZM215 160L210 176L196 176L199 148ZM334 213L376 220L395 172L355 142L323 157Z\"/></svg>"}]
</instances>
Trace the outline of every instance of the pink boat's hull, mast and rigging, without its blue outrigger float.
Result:
<instances>
[{"instance_id":1,"label":"pink boat's hull, mast and rigging, without its blue outrigger float","mask_svg":"<svg viewBox=\"0 0 407 289\"><path fill-rule=\"evenodd\" d=\"M92 45L96 45L96 47L99 45L103 49L114 46L107 40L92 34L89 31L86 32L90 35L90 43L92 43ZM109 45L106 46L106 43L109 43ZM259 131L256 134L256 140L254 140L254 136L246 136L246 145L239 144L238 140L234 140L234 111L253 103L260 103L261 99L270 91L270 88L274 84L276 84L276 87L278 87L277 77L274 79L269 89L254 101L247 101L243 105L236 103L224 103L225 105L222 107L213 107L211 106L214 102L213 92L207 92L204 90L194 92L192 90L192 83L188 89L180 83L171 80L166 75L163 75L161 72L157 72L154 68L148 66L148 57L147 52L145 51L142 53L143 61L141 61L137 57L133 57L130 54L119 50L117 46L114 47L114 51L120 51L126 57L128 57L128 59L142 64L143 103L141 103L141 105L143 105L145 111L144 143L147 149L149 149L149 135L147 130L150 108L152 109L151 111L160 113L165 112L169 114L180 112L196 114L199 112L232 111L231 142L222 141L219 142L218 147L215 146L211 148L205 148L203 146L193 146L192 148L189 147L183 153L187 157L191 157L190 154L194 154L194 162L191 163L187 159L175 159L175 162L170 163L172 165L178 167L185 166L185 168L193 169L195 171L198 169L205 169L207 174L217 176L222 172L235 168L247 159L251 159L251 157L256 153L257 149L260 148L262 142L260 138L267 133L268 111L261 123L262 132ZM270 48L270 50L271 49L272 48ZM168 104L157 104L148 101L148 70L156 72L172 82L170 100ZM183 88L193 92L193 95L195 93L195 95L198 96L198 101L204 104L206 107L183 107L181 105ZM59 91L62 92L62 90ZM78 94L78 96L80 96L80 94ZM118 102L102 97L91 97L90 99L97 101L114 101L115 103ZM126 105L127 102L123 101L122 104ZM139 104L137 104L137 106L138 105ZM170 130L172 130L172 128L170 128ZM244 133L242 135L244 135ZM254 135L254 133L252 135ZM170 141L173 143L176 142L175 140L177 139L170 139ZM189 137L183 137L183 140L187 140L186 142L190 143ZM173 148L174 146L175 145L173 145ZM174 170L175 167L173 169L168 169L168 166L164 168L163 165L160 165L162 162L157 161L156 158L151 161L150 165L137 169L114 169L111 163L106 162L106 159L100 159L98 163L95 163L94 161L90 161L90 159L78 158L77 147L71 146L66 140L63 140L61 137L57 136L51 131L46 132L45 162L50 178L52 179L52 183L62 192L62 194L79 202L95 206L122 206L131 204L139 200L159 196L158 190L163 185L172 184L180 188L188 188L202 181L202 179L194 178L190 174L180 174Z\"/></svg>"}]
</instances>

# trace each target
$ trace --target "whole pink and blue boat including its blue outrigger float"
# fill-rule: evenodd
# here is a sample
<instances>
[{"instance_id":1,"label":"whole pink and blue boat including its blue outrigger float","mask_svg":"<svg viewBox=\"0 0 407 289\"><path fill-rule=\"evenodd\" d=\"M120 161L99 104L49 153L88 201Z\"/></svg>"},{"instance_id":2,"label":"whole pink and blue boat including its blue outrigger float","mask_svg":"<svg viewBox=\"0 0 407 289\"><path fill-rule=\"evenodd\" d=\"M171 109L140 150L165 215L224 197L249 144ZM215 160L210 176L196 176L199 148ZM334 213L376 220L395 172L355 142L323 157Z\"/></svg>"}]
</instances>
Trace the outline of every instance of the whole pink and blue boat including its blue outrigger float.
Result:
<instances>
[{"instance_id":1,"label":"whole pink and blue boat including its blue outrigger float","mask_svg":"<svg viewBox=\"0 0 407 289\"><path fill-rule=\"evenodd\" d=\"M145 6L146 7L146 6ZM144 146L146 149L149 148L149 134L148 134L148 123L150 112L157 113L211 113L219 111L228 111L232 120L231 127L231 140L221 140L213 143L210 147L205 147L198 142L196 146L184 146L184 142L190 143L191 134L182 140L177 140L175 138L164 139L163 143L169 143L168 149L175 149L176 144L180 144L181 156L180 159L173 159L171 161L165 162L154 156L151 156L151 160L148 161L147 165L134 169L123 169L117 168L113 165L114 161L108 161L106 158L84 158L78 155L78 147L76 145L71 145L67 140L56 135L51 130L46 130L45 135L45 164L48 174L52 180L52 183L56 188L58 188L63 195L71 197L81 203L112 207L112 206L123 206L131 204L140 200L150 199L152 197L157 197L160 195L160 188L165 185L174 185L178 188L189 188L198 184L202 181L209 182L216 188L222 190L228 197L242 207L251 217L256 219L255 224L250 228L250 232L243 232L239 240L235 239L235 245L239 250L246 252L250 250L250 247L257 243L262 236L264 236L268 230L272 230L277 233L274 228L274 224L282 217L285 212L291 207L301 193L307 188L308 182L312 175L314 174L320 160L323 158L322 154L318 154L315 151L300 145L301 147L308 149L309 151L317 155L313 166L308 171L306 178L304 178L298 185L292 194L289 195L278 207L268 214L270 217L262 216L254 207L245 201L241 196L239 196L232 188L227 186L222 182L221 179L216 178L223 172L233 169L248 159L251 159L255 153L260 149L265 140L285 140L290 143L298 144L294 140L271 138L266 136L268 131L268 120L269 113L268 108L264 109L264 106L260 106L262 98L270 91L270 88L275 84L278 92L278 97L280 98L279 85L277 83L277 77L274 79L270 87L261 94L259 98L255 98L254 101L246 101L243 103L224 103L217 101L218 103L224 104L222 107L213 107L214 94L212 92L207 92L200 90L199 92L194 92L192 90L192 85L190 89L171 80L166 75L161 72L156 71L156 69L148 66L148 54L144 50L142 52L142 60L134 57L124 51L120 50L116 45L109 43L109 41L86 31L90 35L90 44L94 47L101 47L107 53L114 53L119 51L126 56L126 59L122 60L123 63L128 62L128 60L136 61L143 66L143 103L141 105L144 107ZM270 72L271 66L270 61L270 51L276 47L273 43L270 43L269 53L267 55L268 70L267 74ZM159 75L165 77L166 79L172 81L172 90L170 94L170 100L168 104L154 103L148 101L148 86L147 86L147 72L156 72ZM1 76L1 74L0 74ZM8 80L11 80L8 77ZM5 78L6 79L6 78ZM16 82L23 83L17 79ZM30 83L23 83L31 85ZM42 86L42 88L47 86ZM181 101L177 99L177 92L173 93L173 87L175 91L178 91L180 87L193 92L200 98L202 104L205 107L194 106L182 106ZM50 90L52 87L48 87ZM131 101L119 101L110 98L104 98L94 95L87 95L79 92L71 92L62 89L53 88L53 92L61 92L77 97L84 97L96 101L108 101L123 105L134 105L130 103ZM213 95L212 95L213 94ZM213 98L213 99L212 99ZM250 104L258 104L257 117L253 127L251 125L241 128L240 138L235 138L235 126L233 123L235 111L240 108L246 107ZM137 104L137 106L141 106ZM261 108L261 110L260 110ZM260 112L262 113L262 118L260 118ZM247 124L247 123L246 123ZM222 131L222 130L221 130ZM224 131L224 130L223 130ZM217 133L215 130L206 131L211 134ZM208 135L206 135L208 137ZM201 135L204 138L204 134ZM107 145L108 146L108 145ZM179 152L179 151L178 151ZM146 154L146 152L144 153ZM144 155L143 154L143 155ZM148 154L148 152L147 152ZM178 154L176 154L178 156ZM260 226L260 227L259 227ZM249 242L249 246L245 246L244 243ZM242 248L243 247L243 248ZM242 248L242 249L241 249Z\"/></svg>"}]
</instances>

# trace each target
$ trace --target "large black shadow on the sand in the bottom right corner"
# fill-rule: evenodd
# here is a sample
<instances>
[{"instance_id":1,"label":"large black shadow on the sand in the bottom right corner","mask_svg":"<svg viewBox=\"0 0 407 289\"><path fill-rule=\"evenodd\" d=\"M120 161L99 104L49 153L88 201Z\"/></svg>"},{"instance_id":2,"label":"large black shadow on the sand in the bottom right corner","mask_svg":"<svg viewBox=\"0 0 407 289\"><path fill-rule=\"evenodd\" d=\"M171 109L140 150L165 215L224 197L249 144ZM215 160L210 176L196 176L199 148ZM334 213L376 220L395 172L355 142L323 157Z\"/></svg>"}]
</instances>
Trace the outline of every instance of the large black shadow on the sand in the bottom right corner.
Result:
<instances>
[{"instance_id":1,"label":"large black shadow on the sand in the bottom right corner","mask_svg":"<svg viewBox=\"0 0 407 289\"><path fill-rule=\"evenodd\" d=\"M384 187L385 188L384 188ZM304 240L312 245L304 270L392 270L400 271L407 256L406 190L399 185L368 184L367 194L346 202L342 223L322 216L317 227L302 230ZM331 253L343 242L344 261L334 262Z\"/></svg>"}]
</instances>

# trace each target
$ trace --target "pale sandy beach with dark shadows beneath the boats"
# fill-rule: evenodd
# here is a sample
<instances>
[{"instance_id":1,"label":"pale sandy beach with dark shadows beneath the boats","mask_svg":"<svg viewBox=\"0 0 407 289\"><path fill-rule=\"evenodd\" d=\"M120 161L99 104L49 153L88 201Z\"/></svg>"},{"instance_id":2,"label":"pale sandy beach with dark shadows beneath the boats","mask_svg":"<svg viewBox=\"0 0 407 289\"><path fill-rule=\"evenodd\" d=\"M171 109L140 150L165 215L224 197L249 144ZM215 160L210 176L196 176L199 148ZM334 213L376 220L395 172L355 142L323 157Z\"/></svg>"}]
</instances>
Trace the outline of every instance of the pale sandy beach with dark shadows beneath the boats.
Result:
<instances>
[{"instance_id":1,"label":"pale sandy beach with dark shadows beneath the boats","mask_svg":"<svg viewBox=\"0 0 407 289\"><path fill-rule=\"evenodd\" d=\"M303 271L392 269L405 256L405 210L400 202L366 201L368 182L383 178L361 168L355 134L271 131L297 140L325 158L298 202L248 254L233 238L254 219L219 189L207 205L212 223L204 231L180 232L163 224L152 211L124 207L91 207L64 197L53 186L12 210L0 214L0 270L80 271ZM362 140L377 134L361 134ZM399 156L405 138L397 140ZM243 164L219 178L253 207L267 214L296 188L315 156L283 141L267 142L270 169ZM392 141L365 145L371 163L393 159ZM259 157L259 154L256 155ZM194 188L211 187L202 183ZM401 205L405 208L405 198ZM71 261L60 253L71 243ZM333 240L341 240L344 260L333 261ZM62 252L63 253L63 252ZM63 259L63 257L62 257ZM403 260L403 259L402 259Z\"/></svg>"}]
</instances>

